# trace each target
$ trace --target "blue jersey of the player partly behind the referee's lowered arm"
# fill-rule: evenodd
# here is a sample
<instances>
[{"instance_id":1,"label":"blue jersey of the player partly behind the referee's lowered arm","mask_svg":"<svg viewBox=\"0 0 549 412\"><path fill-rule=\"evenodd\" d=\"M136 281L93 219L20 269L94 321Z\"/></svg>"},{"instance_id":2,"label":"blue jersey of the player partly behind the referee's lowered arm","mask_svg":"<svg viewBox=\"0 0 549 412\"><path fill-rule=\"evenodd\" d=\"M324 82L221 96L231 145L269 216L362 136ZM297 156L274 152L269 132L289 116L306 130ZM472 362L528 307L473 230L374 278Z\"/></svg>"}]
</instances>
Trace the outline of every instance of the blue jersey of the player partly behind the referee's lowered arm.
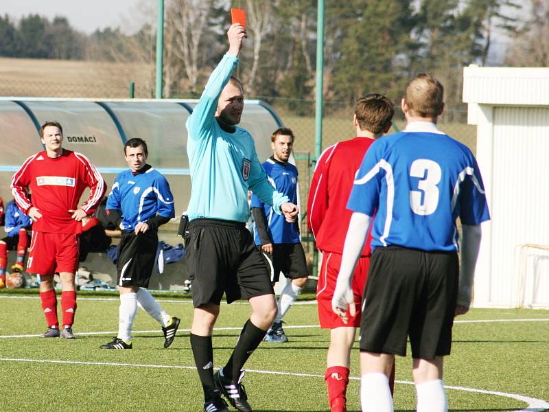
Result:
<instances>
[{"instance_id":1,"label":"blue jersey of the player partly behind the referee's lowered arm","mask_svg":"<svg viewBox=\"0 0 549 412\"><path fill-rule=\"evenodd\" d=\"M262 163L268 176L268 181L277 190L283 193L290 202L297 204L297 168L292 163L281 164L273 159L267 159ZM273 243L298 243L300 241L299 231L295 222L286 222L284 216L275 214L270 205L266 205L260 198L252 194L251 207L260 207L264 210L268 224L268 233ZM257 227L254 225L255 244L261 244Z\"/></svg>"}]
</instances>

